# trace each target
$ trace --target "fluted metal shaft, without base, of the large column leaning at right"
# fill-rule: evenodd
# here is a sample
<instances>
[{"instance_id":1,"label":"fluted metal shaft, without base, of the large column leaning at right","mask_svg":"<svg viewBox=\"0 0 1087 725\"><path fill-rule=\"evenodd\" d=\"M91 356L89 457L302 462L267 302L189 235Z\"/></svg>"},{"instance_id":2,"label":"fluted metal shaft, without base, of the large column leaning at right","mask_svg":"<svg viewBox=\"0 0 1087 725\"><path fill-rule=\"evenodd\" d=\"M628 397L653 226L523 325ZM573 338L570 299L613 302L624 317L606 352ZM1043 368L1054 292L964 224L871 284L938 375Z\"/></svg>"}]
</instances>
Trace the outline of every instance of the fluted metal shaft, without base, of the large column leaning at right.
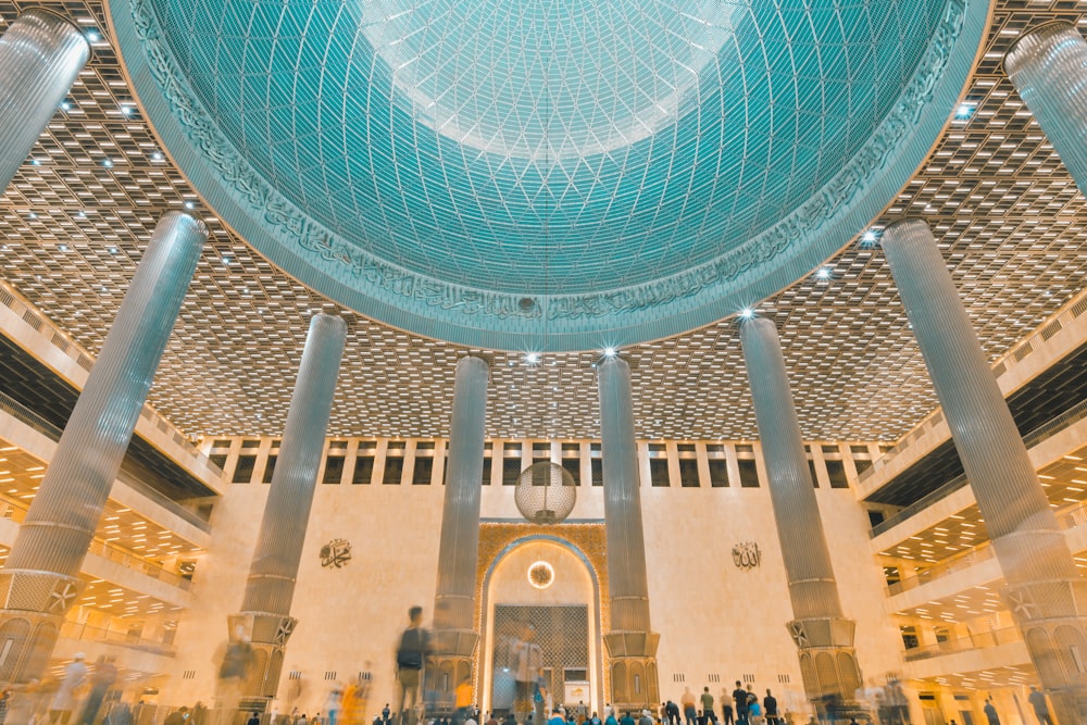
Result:
<instances>
[{"instance_id":1,"label":"fluted metal shaft, without base, of the large column leaning at right","mask_svg":"<svg viewBox=\"0 0 1087 725\"><path fill-rule=\"evenodd\" d=\"M932 230L898 222L882 245L1004 577L1078 577Z\"/></svg>"}]
</instances>

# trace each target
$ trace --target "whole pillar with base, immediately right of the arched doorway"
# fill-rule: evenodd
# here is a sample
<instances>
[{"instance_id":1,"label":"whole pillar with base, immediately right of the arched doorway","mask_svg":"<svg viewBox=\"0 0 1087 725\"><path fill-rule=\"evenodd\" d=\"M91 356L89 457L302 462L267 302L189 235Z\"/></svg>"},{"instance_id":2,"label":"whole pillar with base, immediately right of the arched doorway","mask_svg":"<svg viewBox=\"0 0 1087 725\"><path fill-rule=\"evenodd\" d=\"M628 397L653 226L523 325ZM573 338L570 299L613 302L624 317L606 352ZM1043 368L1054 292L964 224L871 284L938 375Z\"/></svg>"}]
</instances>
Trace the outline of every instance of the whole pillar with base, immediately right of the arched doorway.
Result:
<instances>
[{"instance_id":1,"label":"whole pillar with base, immediately right of the arched doorway","mask_svg":"<svg viewBox=\"0 0 1087 725\"><path fill-rule=\"evenodd\" d=\"M611 657L611 702L619 710L648 708L660 702L657 645L661 636L649 622L630 366L621 358L605 358L597 366L597 384L611 602L611 630L604 634Z\"/></svg>"}]
</instances>

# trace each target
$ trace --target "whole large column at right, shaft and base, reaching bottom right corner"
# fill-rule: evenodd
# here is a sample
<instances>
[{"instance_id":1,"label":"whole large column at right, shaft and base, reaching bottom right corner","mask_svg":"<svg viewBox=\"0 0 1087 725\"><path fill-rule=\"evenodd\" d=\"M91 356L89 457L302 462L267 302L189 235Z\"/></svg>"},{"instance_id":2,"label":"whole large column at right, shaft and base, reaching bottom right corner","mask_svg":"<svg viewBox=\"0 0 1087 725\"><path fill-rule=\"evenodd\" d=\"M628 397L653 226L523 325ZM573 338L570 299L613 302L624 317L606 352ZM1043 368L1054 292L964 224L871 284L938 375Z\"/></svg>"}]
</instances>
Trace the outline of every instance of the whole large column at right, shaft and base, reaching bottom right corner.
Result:
<instances>
[{"instance_id":1,"label":"whole large column at right, shaft and base, reaching bottom right corner","mask_svg":"<svg viewBox=\"0 0 1087 725\"><path fill-rule=\"evenodd\" d=\"M1087 714L1082 578L928 225L887 227L883 248L944 417L992 537L1003 597L1061 723Z\"/></svg>"}]
</instances>

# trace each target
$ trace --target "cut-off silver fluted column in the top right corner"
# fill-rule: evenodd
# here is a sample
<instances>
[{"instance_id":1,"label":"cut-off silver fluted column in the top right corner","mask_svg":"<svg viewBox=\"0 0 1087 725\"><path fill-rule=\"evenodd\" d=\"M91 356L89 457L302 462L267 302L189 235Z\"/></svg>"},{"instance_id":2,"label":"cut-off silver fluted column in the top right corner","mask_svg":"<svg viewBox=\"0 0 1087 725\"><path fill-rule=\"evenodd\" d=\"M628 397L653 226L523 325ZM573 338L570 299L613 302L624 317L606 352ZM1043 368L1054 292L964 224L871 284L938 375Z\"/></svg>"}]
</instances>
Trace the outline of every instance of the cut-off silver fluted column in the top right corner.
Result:
<instances>
[{"instance_id":1,"label":"cut-off silver fluted column in the top right corner","mask_svg":"<svg viewBox=\"0 0 1087 725\"><path fill-rule=\"evenodd\" d=\"M1087 41L1070 23L1046 23L1015 41L1004 70L1087 193Z\"/></svg>"}]
</instances>

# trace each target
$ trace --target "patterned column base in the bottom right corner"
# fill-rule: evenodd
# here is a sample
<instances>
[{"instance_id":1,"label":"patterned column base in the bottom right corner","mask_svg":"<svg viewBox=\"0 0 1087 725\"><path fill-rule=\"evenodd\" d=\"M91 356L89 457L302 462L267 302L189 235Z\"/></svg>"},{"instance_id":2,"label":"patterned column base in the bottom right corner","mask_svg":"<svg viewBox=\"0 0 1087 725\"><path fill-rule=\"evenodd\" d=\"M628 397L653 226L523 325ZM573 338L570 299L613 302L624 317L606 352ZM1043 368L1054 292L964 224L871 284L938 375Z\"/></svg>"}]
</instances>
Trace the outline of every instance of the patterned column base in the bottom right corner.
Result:
<instances>
[{"instance_id":1,"label":"patterned column base in the bottom right corner","mask_svg":"<svg viewBox=\"0 0 1087 725\"><path fill-rule=\"evenodd\" d=\"M1011 585L1001 596L1057 720L1087 721L1087 579Z\"/></svg>"}]
</instances>

